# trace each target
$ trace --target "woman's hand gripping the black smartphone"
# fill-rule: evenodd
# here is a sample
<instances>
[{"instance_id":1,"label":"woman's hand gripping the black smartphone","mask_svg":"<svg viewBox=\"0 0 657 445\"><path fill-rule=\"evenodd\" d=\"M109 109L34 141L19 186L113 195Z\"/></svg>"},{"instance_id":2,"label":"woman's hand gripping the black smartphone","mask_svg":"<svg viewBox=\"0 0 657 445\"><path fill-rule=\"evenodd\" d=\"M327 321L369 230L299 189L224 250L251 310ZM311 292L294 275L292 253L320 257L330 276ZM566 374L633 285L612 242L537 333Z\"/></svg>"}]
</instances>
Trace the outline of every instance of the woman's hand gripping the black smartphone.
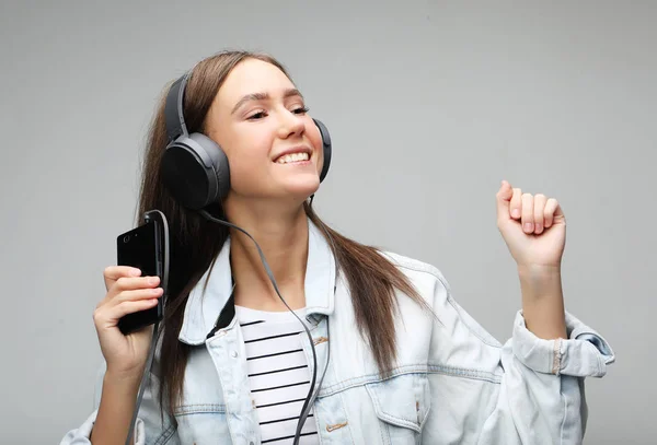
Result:
<instances>
[{"instance_id":1,"label":"woman's hand gripping the black smartphone","mask_svg":"<svg viewBox=\"0 0 657 445\"><path fill-rule=\"evenodd\" d=\"M118 320L127 314L149 309L158 304L162 288L158 277L139 277L141 271L126 266L105 269L107 294L99 303L93 321L107 363L106 375L118 379L141 378L152 338L152 327L124 336Z\"/></svg>"}]
</instances>

